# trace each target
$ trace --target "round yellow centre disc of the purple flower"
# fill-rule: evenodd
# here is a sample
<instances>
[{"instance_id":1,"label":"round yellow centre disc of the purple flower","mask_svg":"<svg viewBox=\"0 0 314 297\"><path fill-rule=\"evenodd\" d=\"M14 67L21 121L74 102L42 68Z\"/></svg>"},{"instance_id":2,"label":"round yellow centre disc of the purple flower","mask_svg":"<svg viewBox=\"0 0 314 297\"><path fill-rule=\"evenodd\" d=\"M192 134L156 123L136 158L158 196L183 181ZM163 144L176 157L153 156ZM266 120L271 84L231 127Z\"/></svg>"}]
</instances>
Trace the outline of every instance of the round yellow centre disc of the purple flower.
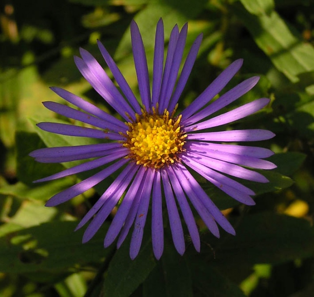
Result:
<instances>
[{"instance_id":1,"label":"round yellow centre disc of the purple flower","mask_svg":"<svg viewBox=\"0 0 314 297\"><path fill-rule=\"evenodd\" d=\"M129 130L123 146L129 148L129 158L137 165L157 169L178 160L187 135L180 127L181 115L173 118L173 114L165 110L159 115L155 108L152 113L142 110L136 121L126 123Z\"/></svg>"}]
</instances>

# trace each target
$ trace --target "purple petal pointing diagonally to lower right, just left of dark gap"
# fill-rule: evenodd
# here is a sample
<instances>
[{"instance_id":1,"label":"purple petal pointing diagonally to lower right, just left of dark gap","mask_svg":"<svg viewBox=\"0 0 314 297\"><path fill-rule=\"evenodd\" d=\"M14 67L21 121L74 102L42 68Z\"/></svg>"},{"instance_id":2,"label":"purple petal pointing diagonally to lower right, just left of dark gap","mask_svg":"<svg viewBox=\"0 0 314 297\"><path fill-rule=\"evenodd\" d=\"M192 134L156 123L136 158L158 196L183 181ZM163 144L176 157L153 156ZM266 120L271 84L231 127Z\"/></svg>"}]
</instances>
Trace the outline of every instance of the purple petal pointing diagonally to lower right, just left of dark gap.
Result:
<instances>
[{"instance_id":1,"label":"purple petal pointing diagonally to lower right, just left of dark gap","mask_svg":"<svg viewBox=\"0 0 314 297\"><path fill-rule=\"evenodd\" d=\"M191 173L180 163L177 163L177 167L180 171L185 175L185 183L189 187L189 194L193 193L198 197L198 199L202 202L205 208L211 213L217 223L219 223L222 228L230 234L235 235L236 232L229 221L223 216L222 212L218 209L218 207L210 200L207 194L204 192L203 188L198 184L195 178ZM177 172L177 171L176 171ZM178 175L177 175L178 177ZM178 177L179 181L180 178ZM183 184L180 182L181 186L184 188Z\"/></svg>"}]
</instances>

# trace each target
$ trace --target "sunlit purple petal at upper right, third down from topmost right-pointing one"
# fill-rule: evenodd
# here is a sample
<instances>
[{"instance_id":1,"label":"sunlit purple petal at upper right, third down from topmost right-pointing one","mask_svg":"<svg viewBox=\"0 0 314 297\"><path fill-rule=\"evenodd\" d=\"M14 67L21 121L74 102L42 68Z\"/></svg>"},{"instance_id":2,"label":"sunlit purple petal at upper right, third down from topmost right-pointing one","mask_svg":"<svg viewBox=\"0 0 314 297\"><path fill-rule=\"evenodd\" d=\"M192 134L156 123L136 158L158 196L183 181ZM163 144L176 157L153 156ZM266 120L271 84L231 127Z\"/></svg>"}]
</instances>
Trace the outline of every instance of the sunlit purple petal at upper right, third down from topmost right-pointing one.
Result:
<instances>
[{"instance_id":1,"label":"sunlit purple petal at upper right, third down from topmost right-pointing one","mask_svg":"<svg viewBox=\"0 0 314 297\"><path fill-rule=\"evenodd\" d=\"M185 128L185 131L189 132L189 131L194 131L194 130L203 130L203 129L218 127L224 124L232 123L248 115L251 115L255 113L256 111L261 110L269 103L269 101L270 100L267 98L260 98L253 102L244 104L238 108L235 108L232 111L228 111L218 116L215 116L207 121L204 121L195 125L187 126Z\"/></svg>"}]
</instances>

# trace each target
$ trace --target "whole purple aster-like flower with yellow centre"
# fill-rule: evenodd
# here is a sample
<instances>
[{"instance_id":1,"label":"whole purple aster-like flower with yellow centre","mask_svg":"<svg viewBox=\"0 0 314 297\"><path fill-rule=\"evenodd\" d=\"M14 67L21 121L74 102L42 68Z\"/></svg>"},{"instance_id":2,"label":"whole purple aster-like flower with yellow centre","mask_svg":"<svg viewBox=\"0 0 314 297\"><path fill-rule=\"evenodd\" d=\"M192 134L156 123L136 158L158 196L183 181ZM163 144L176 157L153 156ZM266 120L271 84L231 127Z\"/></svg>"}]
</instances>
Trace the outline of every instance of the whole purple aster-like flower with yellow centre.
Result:
<instances>
[{"instance_id":1,"label":"whole purple aster-like flower with yellow centre","mask_svg":"<svg viewBox=\"0 0 314 297\"><path fill-rule=\"evenodd\" d=\"M185 48L187 24L183 26L181 32L177 25L173 28L163 67L164 25L162 19L159 20L156 28L150 93L147 59L135 21L131 22L130 31L141 103L99 41L99 50L120 86L121 93L96 59L81 49L81 58L74 57L77 68L123 120L113 117L73 93L56 87L51 88L80 110L55 102L43 102L46 108L95 128L48 122L39 123L37 126L53 133L100 139L100 143L33 151L30 155L43 163L95 158L37 182L51 181L111 163L98 173L56 194L46 205L55 206L66 202L121 169L111 186L104 190L99 200L78 224L76 229L92 220L84 233L83 242L93 237L125 194L105 236L105 247L118 238L119 248L129 229L134 225L130 241L130 258L134 259L137 256L151 198L151 233L155 257L160 259L164 248L163 200L166 202L173 242L179 254L185 252L185 239L177 204L180 206L191 241L195 249L200 251L199 231L190 204L216 237L220 236L217 223L230 234L234 235L235 230L188 168L241 203L255 204L250 197L255 193L224 173L244 180L266 183L268 180L263 175L247 167L259 169L276 167L273 163L263 160L273 152L266 148L224 143L265 140L272 138L274 134L268 130L252 129L218 132L207 130L259 111L269 103L269 99L261 98L208 119L209 115L220 111L257 84L259 80L257 76L246 79L208 104L239 71L242 65L242 60L239 59L227 67L185 110L177 114L177 102L198 54L202 35L197 37L191 46L182 73L177 79Z\"/></svg>"}]
</instances>

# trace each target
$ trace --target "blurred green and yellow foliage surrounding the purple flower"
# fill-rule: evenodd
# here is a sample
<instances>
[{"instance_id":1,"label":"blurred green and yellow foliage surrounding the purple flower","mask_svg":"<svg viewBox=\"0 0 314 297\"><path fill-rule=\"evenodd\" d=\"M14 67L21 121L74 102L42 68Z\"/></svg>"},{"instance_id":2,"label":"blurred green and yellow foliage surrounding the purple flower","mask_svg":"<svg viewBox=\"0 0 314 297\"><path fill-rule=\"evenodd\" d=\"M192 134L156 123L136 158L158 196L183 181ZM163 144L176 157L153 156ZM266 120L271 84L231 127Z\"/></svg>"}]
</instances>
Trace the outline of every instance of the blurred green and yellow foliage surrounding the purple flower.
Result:
<instances>
[{"instance_id":1,"label":"blurred green and yellow foliage surrounding the purple flower","mask_svg":"<svg viewBox=\"0 0 314 297\"><path fill-rule=\"evenodd\" d=\"M83 177L34 185L33 180L63 165L37 164L28 153L77 144L71 137L34 128L38 121L55 117L40 103L61 100L49 86L64 87L113 113L75 68L79 47L101 61L96 40L103 41L138 92L129 23L137 21L151 65L160 17L166 38L175 23L186 21L187 44L204 34L181 108L237 58L244 58L244 64L227 89L249 76L261 77L234 106L265 96L271 105L233 128L274 131L277 137L260 146L277 153L270 159L278 167L262 172L269 184L246 183L258 193L253 207L239 205L200 181L236 227L236 237L222 232L217 240L200 221L201 253L187 237L181 257L166 227L165 252L156 261L148 226L140 254L132 261L128 243L118 251L103 248L107 224L86 244L81 244L82 231L73 232L110 180L84 197L47 208L47 199ZM1 297L314 295L312 0L28 0L27 5L3 0L0 24Z\"/></svg>"}]
</instances>

